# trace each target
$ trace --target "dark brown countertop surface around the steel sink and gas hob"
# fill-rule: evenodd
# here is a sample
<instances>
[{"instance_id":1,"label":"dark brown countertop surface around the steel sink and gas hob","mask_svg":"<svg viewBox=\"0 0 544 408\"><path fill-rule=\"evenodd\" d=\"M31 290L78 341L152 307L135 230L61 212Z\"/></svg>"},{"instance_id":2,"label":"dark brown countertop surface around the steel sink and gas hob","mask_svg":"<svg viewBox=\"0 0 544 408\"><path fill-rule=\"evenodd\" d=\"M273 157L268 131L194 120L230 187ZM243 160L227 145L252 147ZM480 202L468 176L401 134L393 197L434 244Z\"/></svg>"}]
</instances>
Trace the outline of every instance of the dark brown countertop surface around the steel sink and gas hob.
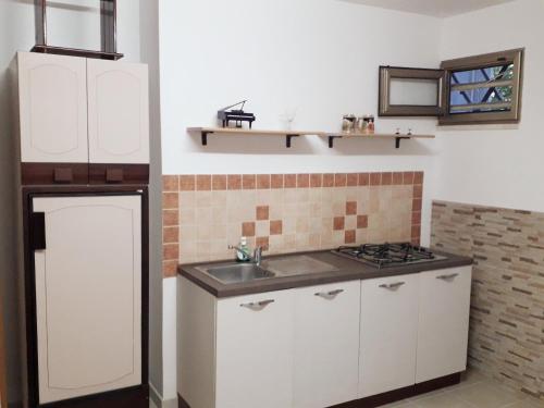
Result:
<instances>
[{"instance_id":1,"label":"dark brown countertop surface around the steel sink and gas hob","mask_svg":"<svg viewBox=\"0 0 544 408\"><path fill-rule=\"evenodd\" d=\"M472 259L460 257L457 255L434 251L436 255L447 257L444 260L436 260L433 262L412 263L398 267L387 267L378 269L376 267L351 260L348 258L339 257L332 254L330 250L314 251L314 252L297 252L275 255L263 258L262 267L267 268L267 260L284 259L288 257L308 256L316 260L320 260L334 265L337 270L322 273L309 273L302 275L292 276L276 276L269 279L255 280L251 282L224 284L211 277L207 273L197 269L200 265L221 265L234 261L219 261L219 262L199 262L193 264L181 264L177 272L209 292L218 298L250 295L264 292L290 289L295 287L323 285L335 282L347 282L356 280L368 280L374 277L385 277L395 275L406 275L411 273L419 273L424 271L434 271L438 269L448 269L456 267L465 267L472 264Z\"/></svg>"}]
</instances>

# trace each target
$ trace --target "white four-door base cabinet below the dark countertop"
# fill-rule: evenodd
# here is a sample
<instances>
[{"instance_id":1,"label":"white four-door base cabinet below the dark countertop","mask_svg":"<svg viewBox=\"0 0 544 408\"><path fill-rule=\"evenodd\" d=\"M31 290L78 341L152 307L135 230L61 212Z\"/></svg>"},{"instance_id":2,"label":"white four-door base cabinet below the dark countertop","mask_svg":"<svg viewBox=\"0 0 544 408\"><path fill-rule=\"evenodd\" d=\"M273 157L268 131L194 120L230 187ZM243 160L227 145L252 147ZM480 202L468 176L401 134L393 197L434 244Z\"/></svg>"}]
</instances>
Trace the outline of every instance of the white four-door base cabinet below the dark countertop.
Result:
<instances>
[{"instance_id":1,"label":"white four-door base cabinet below the dark countertop","mask_svg":"<svg viewBox=\"0 0 544 408\"><path fill-rule=\"evenodd\" d=\"M218 299L178 279L191 408L325 408L466 369L471 267Z\"/></svg>"}]
</instances>

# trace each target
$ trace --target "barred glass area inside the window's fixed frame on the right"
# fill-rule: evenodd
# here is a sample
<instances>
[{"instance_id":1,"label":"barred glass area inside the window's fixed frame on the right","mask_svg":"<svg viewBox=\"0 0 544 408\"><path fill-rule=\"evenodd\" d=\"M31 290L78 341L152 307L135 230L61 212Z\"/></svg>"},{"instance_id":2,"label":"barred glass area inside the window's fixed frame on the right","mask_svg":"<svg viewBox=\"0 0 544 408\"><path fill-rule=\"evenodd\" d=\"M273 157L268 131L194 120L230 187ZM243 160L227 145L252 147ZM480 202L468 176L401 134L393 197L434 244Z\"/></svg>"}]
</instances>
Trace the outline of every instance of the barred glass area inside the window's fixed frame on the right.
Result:
<instances>
[{"instance_id":1,"label":"barred glass area inside the window's fixed frame on the right","mask_svg":"<svg viewBox=\"0 0 544 408\"><path fill-rule=\"evenodd\" d=\"M512 75L511 63L453 72L449 113L510 111Z\"/></svg>"}]
</instances>

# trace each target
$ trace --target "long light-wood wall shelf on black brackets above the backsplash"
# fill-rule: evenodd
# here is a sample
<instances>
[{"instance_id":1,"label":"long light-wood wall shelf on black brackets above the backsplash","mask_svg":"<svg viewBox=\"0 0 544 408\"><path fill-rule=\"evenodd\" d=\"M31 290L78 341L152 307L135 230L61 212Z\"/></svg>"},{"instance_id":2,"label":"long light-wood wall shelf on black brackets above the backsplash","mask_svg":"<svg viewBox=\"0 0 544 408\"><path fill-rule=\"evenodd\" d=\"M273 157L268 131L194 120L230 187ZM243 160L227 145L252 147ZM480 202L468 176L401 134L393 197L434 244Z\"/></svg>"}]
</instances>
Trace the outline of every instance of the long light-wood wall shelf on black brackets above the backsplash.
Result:
<instances>
[{"instance_id":1,"label":"long light-wood wall shelf on black brackets above the backsplash","mask_svg":"<svg viewBox=\"0 0 544 408\"><path fill-rule=\"evenodd\" d=\"M208 145L208 135L242 135L242 136L281 136L285 137L285 147L292 146L292 139L300 136L319 136L329 139L329 148L334 147L334 139L359 138L361 140L391 139L395 141L395 148L400 147L401 140L409 139L434 139L434 135L401 135L401 134L355 134L334 132L301 132L301 131L261 131L236 127L187 127L189 134L200 134L202 146Z\"/></svg>"}]
</instances>

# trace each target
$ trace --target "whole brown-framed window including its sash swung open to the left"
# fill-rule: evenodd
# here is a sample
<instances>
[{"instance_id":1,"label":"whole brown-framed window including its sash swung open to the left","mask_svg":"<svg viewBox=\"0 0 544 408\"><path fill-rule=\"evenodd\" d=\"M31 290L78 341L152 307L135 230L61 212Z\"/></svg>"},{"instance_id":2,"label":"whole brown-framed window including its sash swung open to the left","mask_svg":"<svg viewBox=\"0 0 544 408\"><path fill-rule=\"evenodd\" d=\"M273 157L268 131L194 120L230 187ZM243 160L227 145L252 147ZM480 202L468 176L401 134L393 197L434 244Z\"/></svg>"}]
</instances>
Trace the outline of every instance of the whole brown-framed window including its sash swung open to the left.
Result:
<instances>
[{"instance_id":1,"label":"whole brown-framed window including its sash swung open to the left","mask_svg":"<svg viewBox=\"0 0 544 408\"><path fill-rule=\"evenodd\" d=\"M523 49L443 61L440 70L380 66L380 116L441 125L518 123Z\"/></svg>"}]
</instances>

